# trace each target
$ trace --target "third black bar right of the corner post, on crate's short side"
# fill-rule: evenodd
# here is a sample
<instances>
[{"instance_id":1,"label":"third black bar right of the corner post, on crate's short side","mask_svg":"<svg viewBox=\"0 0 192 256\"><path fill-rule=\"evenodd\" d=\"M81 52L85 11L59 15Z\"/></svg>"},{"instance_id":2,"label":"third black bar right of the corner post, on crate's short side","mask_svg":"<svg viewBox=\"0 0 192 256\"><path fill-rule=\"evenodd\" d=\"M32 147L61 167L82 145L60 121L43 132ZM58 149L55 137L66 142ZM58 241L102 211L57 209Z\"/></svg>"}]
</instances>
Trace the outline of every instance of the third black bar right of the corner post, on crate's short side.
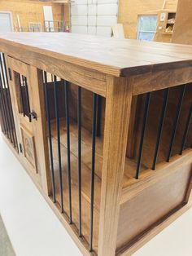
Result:
<instances>
[{"instance_id":1,"label":"third black bar right of the corner post, on crate's short side","mask_svg":"<svg viewBox=\"0 0 192 256\"><path fill-rule=\"evenodd\" d=\"M170 160L170 157L172 155L172 146L173 146L174 139L175 139L175 136L176 136L177 125L178 125L178 121L179 121L179 117L180 117L180 113L181 113L181 106L182 106L182 102L183 102L183 98L184 98L184 94L185 94L185 87L186 87L186 85L181 87L181 93L180 93L180 97L179 97L179 101L178 101L178 105L177 105L177 110L176 110L176 115L175 115L173 128L172 128L172 137L171 137L171 141L170 141L169 148L168 148L167 161Z\"/></svg>"}]
</instances>

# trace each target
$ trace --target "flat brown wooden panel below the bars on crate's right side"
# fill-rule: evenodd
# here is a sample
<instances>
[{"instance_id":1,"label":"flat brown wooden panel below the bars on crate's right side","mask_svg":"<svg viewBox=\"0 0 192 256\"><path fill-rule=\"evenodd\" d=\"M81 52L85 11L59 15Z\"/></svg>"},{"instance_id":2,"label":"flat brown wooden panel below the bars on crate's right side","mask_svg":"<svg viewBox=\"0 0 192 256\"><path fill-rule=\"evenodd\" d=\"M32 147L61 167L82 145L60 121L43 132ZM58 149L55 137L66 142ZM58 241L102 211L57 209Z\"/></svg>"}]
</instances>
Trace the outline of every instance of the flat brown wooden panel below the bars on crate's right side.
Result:
<instances>
[{"instance_id":1,"label":"flat brown wooden panel below the bars on crate's right side","mask_svg":"<svg viewBox=\"0 0 192 256\"><path fill-rule=\"evenodd\" d=\"M121 205L116 243L118 249L132 245L166 214L185 203L191 174L192 165L188 163Z\"/></svg>"}]
</instances>

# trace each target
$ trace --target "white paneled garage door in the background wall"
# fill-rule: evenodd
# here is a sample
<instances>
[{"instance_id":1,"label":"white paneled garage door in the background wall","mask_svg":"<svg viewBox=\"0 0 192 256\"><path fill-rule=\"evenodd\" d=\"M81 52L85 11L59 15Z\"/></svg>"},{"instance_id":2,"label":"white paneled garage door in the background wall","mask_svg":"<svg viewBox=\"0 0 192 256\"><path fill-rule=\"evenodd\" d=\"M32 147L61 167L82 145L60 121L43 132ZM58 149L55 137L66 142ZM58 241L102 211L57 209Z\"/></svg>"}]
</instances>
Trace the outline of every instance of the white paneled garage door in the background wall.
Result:
<instances>
[{"instance_id":1,"label":"white paneled garage door in the background wall","mask_svg":"<svg viewBox=\"0 0 192 256\"><path fill-rule=\"evenodd\" d=\"M71 1L72 33L111 37L117 23L118 0Z\"/></svg>"}]
</instances>

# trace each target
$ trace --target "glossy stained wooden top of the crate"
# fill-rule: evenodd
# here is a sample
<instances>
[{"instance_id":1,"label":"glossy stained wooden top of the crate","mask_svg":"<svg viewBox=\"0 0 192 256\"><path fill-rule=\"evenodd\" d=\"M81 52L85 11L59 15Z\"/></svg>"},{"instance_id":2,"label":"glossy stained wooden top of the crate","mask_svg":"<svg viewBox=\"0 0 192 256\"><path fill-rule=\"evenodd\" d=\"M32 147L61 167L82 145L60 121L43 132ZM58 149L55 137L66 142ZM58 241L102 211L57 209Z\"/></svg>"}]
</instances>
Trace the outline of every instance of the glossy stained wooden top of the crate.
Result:
<instances>
[{"instance_id":1,"label":"glossy stained wooden top of the crate","mask_svg":"<svg viewBox=\"0 0 192 256\"><path fill-rule=\"evenodd\" d=\"M116 77L192 65L192 46L75 33L0 33L1 43Z\"/></svg>"}]
</instances>

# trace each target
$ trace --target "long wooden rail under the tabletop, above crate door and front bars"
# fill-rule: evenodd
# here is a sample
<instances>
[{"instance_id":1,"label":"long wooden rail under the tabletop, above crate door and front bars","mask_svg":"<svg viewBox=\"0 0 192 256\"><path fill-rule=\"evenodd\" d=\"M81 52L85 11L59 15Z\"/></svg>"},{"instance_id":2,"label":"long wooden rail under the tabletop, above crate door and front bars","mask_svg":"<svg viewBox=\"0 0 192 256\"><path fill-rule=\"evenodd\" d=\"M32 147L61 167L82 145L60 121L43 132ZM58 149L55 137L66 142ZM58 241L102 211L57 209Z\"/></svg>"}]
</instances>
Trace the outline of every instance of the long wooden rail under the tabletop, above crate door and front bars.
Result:
<instances>
[{"instance_id":1,"label":"long wooden rail under the tabletop, above crate door and front bars","mask_svg":"<svg viewBox=\"0 0 192 256\"><path fill-rule=\"evenodd\" d=\"M81 85L85 89L92 90L98 95L106 95L106 75L92 70L91 67L84 68L81 65L71 64L68 61L43 55L41 52L36 53L21 49L20 46L7 46L3 42L0 43L0 50L7 52L8 55L11 55L15 59L25 63L27 62L48 73L54 73L56 76L69 82Z\"/></svg>"}]
</instances>

